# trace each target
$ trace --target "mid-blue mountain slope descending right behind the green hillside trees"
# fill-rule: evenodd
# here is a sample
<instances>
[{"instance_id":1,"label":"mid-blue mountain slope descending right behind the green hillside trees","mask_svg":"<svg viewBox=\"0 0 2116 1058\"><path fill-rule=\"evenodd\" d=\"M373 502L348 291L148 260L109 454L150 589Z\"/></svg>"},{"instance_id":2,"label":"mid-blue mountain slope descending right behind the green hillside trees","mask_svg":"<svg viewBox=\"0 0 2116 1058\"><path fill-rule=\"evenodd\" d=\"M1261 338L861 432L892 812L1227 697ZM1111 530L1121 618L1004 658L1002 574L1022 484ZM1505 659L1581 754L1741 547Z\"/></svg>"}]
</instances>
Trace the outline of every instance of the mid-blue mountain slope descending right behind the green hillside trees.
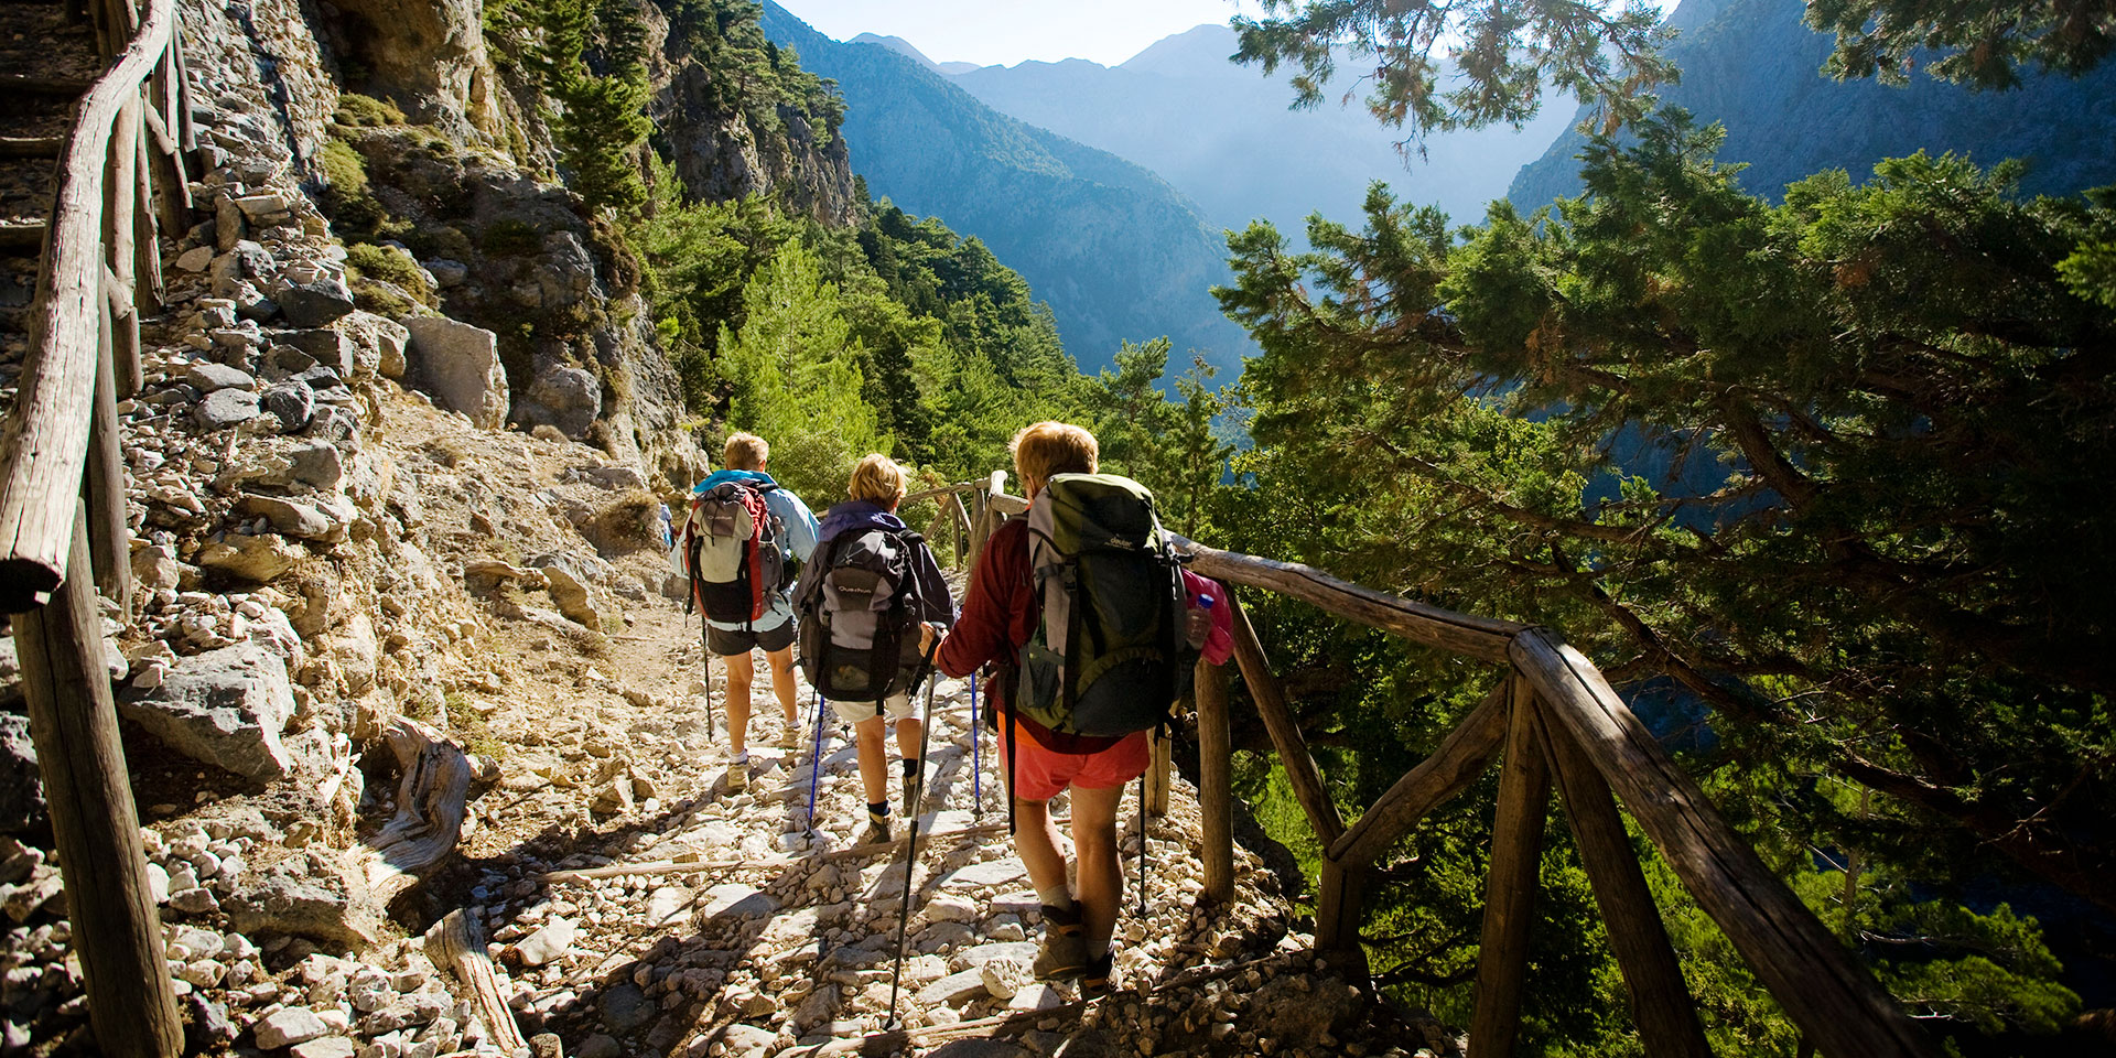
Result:
<instances>
[{"instance_id":1,"label":"mid-blue mountain slope descending right behind the green hillside trees","mask_svg":"<svg viewBox=\"0 0 2116 1058\"><path fill-rule=\"evenodd\" d=\"M844 93L853 171L874 197L980 237L1058 317L1081 368L1168 334L1240 368L1255 347L1219 313L1227 248L1151 171L1005 116L884 42L832 40L766 0L764 32Z\"/></svg>"}]
</instances>

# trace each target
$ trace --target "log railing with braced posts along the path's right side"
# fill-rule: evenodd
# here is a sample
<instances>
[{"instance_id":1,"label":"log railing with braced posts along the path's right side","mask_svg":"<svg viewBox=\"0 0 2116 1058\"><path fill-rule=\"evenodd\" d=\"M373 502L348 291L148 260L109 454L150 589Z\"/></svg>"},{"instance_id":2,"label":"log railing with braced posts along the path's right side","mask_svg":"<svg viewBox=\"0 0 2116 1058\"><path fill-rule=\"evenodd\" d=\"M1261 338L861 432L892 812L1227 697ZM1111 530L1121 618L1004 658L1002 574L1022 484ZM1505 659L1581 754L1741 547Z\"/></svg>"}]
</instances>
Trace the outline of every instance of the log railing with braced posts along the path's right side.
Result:
<instances>
[{"instance_id":1,"label":"log railing with braced posts along the path's right side","mask_svg":"<svg viewBox=\"0 0 2116 1058\"><path fill-rule=\"evenodd\" d=\"M1026 501L997 480L973 497L982 516L971 540ZM1325 849L1316 878L1316 948L1361 967L1361 901L1373 861L1426 815L1469 789L1502 758L1485 878L1471 1047L1477 1058L1515 1054L1528 929L1534 920L1543 823L1555 789L1581 861L1608 925L1631 1018L1646 1054L1712 1054L1682 982L1644 870L1631 851L1617 800L1674 868L1676 878L1727 933L1792 1024L1830 1058L1934 1056L1934 1043L1866 967L1807 910L1646 730L1600 669L1551 628L1475 618L1348 584L1318 569L1278 563L1179 537L1189 569L1227 586L1301 599L1327 614L1447 654L1507 667L1492 692L1365 815L1346 823L1301 736L1299 722L1240 601L1234 654L1278 762L1308 825ZM1229 677L1198 664L1198 800L1204 808L1200 859L1210 899L1234 899L1234 796ZM1615 794L1615 798L1612 798Z\"/></svg>"}]
</instances>

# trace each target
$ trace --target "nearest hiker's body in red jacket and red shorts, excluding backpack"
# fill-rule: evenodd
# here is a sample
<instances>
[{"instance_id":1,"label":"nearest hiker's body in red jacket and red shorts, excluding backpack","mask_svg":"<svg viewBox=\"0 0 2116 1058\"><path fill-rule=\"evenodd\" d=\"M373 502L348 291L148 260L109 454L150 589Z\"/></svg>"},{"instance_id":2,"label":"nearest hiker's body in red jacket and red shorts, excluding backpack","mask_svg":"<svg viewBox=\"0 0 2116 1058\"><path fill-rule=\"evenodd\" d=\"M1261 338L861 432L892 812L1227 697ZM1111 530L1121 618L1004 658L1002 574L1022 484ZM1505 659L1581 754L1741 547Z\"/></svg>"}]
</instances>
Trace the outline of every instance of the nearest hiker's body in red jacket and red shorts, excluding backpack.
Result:
<instances>
[{"instance_id":1,"label":"nearest hiker's body in red jacket and red shorts, excluding backpack","mask_svg":"<svg viewBox=\"0 0 2116 1058\"><path fill-rule=\"evenodd\" d=\"M1098 446L1092 434L1069 423L1035 423L1014 436L1014 470L1030 499L1054 474L1094 474ZM1191 595L1196 605L1196 595ZM1227 607L1219 607L1225 612ZM1187 635L1193 645L1208 643L1217 614L1189 612ZM935 667L950 677L965 677L986 662L1011 662L1043 620L1037 588L1030 580L1028 523L1009 518L1001 525L971 571L963 616L940 643ZM931 641L931 628L927 635ZM1225 660L1225 652L1219 652ZM1079 978L1081 992L1109 990L1109 935L1117 925L1124 899L1124 876L1117 863L1117 800L1124 785L1138 779L1151 762L1149 732L1121 738L1058 734L1007 709L1005 681L992 681L992 705L1003 724L1014 724L1014 738L999 738L1001 753L1011 743L1014 760L1014 844L1028 868L1028 880L1043 904L1043 950L1037 954L1039 980ZM1050 819L1050 800L1073 791L1073 849L1079 855L1079 893L1066 889L1066 859L1058 851L1058 832Z\"/></svg>"}]
</instances>

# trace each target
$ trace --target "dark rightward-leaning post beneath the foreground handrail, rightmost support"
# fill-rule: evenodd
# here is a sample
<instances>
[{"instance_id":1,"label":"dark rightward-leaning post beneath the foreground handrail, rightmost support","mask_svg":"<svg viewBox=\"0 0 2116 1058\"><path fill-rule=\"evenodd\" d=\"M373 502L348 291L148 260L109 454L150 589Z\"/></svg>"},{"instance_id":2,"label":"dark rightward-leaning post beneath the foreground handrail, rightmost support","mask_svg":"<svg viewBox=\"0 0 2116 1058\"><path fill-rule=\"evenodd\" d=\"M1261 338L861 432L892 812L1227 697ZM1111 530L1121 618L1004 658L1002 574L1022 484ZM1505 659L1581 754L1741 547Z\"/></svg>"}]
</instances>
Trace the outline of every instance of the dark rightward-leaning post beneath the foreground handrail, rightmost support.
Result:
<instances>
[{"instance_id":1,"label":"dark rightward-leaning post beneath the foreground handrail, rightmost support","mask_svg":"<svg viewBox=\"0 0 2116 1058\"><path fill-rule=\"evenodd\" d=\"M1538 709L1540 713L1540 709ZM1623 988L1631 997L1631 1024L1655 1058L1710 1058L1712 1045L1697 1024L1697 1003L1682 982L1682 965L1667 944L1667 927L1638 868L1631 836L1623 829L1608 783L1595 774L1572 736L1549 717L1536 717L1551 779L1564 798L1572 840L1579 844L1587 882L1608 927L1608 946L1623 969Z\"/></svg>"}]
</instances>

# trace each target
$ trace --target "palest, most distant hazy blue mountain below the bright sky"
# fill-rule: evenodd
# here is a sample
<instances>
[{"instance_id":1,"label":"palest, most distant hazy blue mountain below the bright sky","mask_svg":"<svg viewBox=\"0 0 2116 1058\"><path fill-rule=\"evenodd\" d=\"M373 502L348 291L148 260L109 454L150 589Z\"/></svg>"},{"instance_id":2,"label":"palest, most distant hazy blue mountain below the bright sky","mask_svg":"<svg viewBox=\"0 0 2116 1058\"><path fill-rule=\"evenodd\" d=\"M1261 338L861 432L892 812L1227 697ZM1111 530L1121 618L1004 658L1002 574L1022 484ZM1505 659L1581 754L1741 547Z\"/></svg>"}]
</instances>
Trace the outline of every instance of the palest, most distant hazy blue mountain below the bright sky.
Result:
<instances>
[{"instance_id":1,"label":"palest, most distant hazy blue mountain below the bright sky","mask_svg":"<svg viewBox=\"0 0 2116 1058\"><path fill-rule=\"evenodd\" d=\"M954 83L995 110L1153 169L1191 197L1215 229L1267 218L1299 235L1308 214L1358 222L1367 184L1435 203L1475 222L1490 199L1564 129L1551 110L1521 131L1433 135L1409 167L1401 133L1356 99L1287 110L1287 78L1227 61L1234 30L1200 25L1164 38L1121 66L1086 59L984 66Z\"/></svg>"}]
</instances>

